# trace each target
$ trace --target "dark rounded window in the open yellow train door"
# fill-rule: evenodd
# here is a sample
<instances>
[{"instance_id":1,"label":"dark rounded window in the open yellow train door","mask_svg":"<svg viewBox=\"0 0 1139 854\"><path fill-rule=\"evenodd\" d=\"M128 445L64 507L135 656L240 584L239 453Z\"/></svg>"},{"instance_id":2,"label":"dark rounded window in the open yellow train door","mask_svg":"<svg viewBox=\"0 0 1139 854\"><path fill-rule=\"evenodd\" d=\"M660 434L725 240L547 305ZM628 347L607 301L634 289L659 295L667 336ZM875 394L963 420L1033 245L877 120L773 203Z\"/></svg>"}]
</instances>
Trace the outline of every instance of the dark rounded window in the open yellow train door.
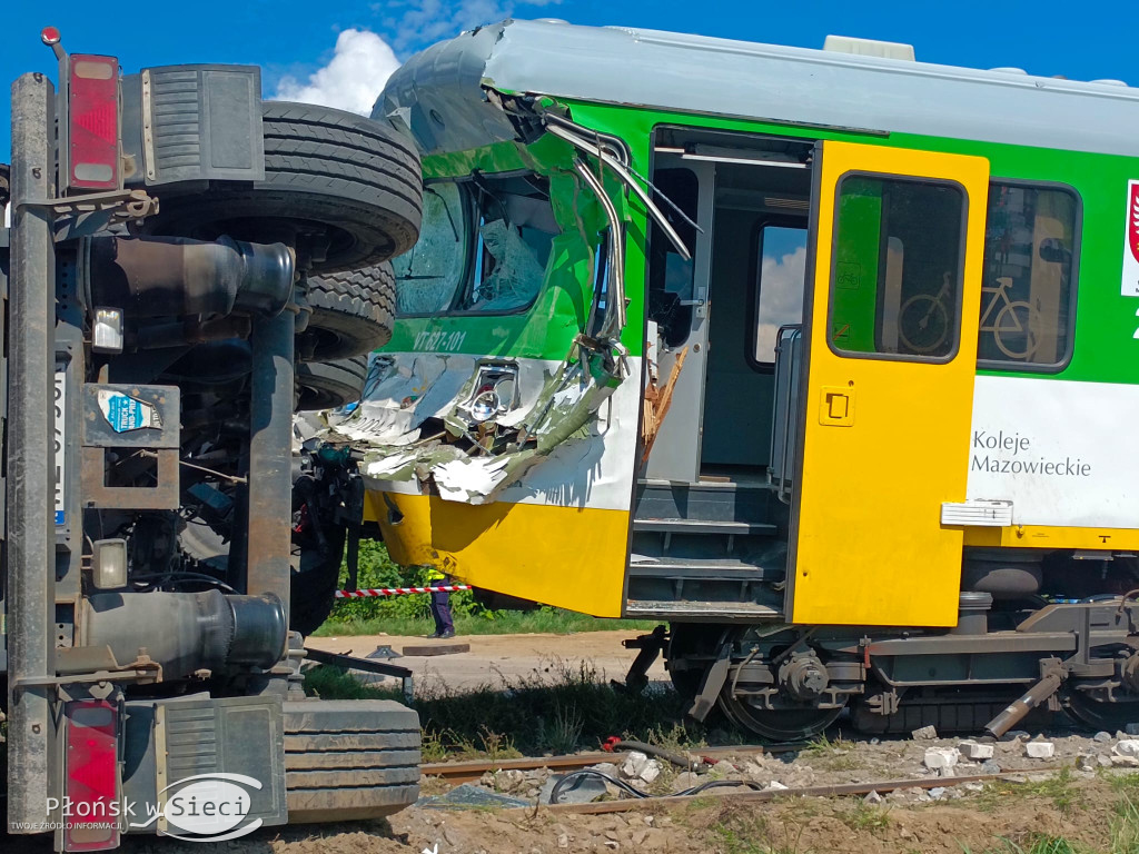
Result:
<instances>
[{"instance_id":1,"label":"dark rounded window in the open yellow train door","mask_svg":"<svg viewBox=\"0 0 1139 854\"><path fill-rule=\"evenodd\" d=\"M835 352L944 362L960 332L966 197L948 181L838 184L828 340Z\"/></svg>"}]
</instances>

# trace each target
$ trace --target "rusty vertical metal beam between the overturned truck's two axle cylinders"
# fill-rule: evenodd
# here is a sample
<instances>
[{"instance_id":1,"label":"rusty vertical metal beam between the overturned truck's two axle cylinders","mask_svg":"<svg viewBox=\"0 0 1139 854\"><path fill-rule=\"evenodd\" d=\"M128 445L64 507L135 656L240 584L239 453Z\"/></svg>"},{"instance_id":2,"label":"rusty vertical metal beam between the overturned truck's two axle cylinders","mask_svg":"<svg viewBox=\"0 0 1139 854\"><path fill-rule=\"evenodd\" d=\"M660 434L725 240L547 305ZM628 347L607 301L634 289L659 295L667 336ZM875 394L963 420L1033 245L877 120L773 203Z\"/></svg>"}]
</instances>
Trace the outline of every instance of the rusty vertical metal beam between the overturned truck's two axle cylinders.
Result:
<instances>
[{"instance_id":1,"label":"rusty vertical metal beam between the overturned truck's two axle cylinders","mask_svg":"<svg viewBox=\"0 0 1139 854\"><path fill-rule=\"evenodd\" d=\"M253 323L246 592L289 606L293 519L293 336L285 311Z\"/></svg>"}]
</instances>

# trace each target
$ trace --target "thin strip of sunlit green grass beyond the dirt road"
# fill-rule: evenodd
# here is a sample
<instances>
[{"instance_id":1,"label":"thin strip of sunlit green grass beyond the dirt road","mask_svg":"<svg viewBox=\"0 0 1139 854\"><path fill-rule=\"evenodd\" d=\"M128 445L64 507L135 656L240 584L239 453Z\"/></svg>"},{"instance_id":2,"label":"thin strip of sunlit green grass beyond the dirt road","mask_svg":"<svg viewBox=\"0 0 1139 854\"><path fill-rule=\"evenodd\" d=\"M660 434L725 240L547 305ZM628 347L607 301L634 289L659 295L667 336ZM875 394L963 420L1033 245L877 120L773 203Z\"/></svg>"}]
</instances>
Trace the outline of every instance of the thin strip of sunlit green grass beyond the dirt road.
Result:
<instances>
[{"instance_id":1,"label":"thin strip of sunlit green grass beyond the dirt road","mask_svg":"<svg viewBox=\"0 0 1139 854\"><path fill-rule=\"evenodd\" d=\"M408 597L403 597L408 598ZM426 594L420 598L426 599ZM487 616L493 614L493 616ZM650 632L659 623L647 619L611 619L591 617L562 608L543 607L530 611L483 611L456 614L456 634L575 634L577 632L611 632L634 630ZM392 611L375 617L339 617L336 611L313 634L320 638L342 638L355 634L426 635L435 631L435 623L427 615Z\"/></svg>"}]
</instances>

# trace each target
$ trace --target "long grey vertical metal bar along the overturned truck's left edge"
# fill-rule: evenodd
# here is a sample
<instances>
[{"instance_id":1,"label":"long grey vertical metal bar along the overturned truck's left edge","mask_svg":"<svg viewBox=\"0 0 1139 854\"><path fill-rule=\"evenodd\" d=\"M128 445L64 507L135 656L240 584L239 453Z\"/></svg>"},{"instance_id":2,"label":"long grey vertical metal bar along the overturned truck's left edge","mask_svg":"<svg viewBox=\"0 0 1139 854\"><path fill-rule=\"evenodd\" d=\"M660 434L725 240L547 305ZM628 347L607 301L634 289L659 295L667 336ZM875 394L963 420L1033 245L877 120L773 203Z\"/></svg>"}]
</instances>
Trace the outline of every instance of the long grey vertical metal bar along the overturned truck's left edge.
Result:
<instances>
[{"instance_id":1,"label":"long grey vertical metal bar along the overturned truck's left edge","mask_svg":"<svg viewBox=\"0 0 1139 854\"><path fill-rule=\"evenodd\" d=\"M49 690L55 674L55 87L11 87L11 268L8 326L8 823L48 820ZM41 203L39 206L28 203ZM40 681L39 685L23 685Z\"/></svg>"}]
</instances>

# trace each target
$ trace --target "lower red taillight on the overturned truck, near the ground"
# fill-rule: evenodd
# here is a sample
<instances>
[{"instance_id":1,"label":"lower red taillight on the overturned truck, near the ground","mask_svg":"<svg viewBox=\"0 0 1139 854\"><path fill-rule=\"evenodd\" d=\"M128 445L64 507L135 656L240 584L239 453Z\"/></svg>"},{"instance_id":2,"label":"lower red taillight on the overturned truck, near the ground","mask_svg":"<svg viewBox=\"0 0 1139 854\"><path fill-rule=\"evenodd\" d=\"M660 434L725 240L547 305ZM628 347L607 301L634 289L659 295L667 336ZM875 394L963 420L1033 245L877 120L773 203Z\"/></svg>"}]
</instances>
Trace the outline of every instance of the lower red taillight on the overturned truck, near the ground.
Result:
<instances>
[{"instance_id":1,"label":"lower red taillight on the overturned truck, near the ground","mask_svg":"<svg viewBox=\"0 0 1139 854\"><path fill-rule=\"evenodd\" d=\"M64 851L118 847L118 709L106 700L64 705Z\"/></svg>"}]
</instances>

